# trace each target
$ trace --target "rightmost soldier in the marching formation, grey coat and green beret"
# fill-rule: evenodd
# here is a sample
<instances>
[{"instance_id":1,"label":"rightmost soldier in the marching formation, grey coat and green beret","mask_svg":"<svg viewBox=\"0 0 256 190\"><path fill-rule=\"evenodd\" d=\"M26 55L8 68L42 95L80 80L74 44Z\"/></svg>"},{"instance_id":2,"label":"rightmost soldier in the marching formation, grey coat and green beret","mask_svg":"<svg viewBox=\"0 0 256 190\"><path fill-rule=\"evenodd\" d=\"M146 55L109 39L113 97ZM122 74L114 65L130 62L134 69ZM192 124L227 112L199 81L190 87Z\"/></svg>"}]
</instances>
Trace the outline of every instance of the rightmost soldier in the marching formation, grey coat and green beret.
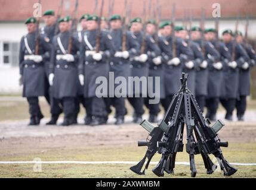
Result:
<instances>
[{"instance_id":1,"label":"rightmost soldier in the marching formation, grey coat and green beret","mask_svg":"<svg viewBox=\"0 0 256 190\"><path fill-rule=\"evenodd\" d=\"M236 41L242 44L243 48L246 50L249 56L249 62L244 62L239 70L239 87L238 87L238 100L236 100L236 115L238 121L244 121L244 115L246 110L246 96L250 94L250 70L252 66L255 66L256 54L254 49L249 43L243 43L243 36L240 31L238 31L236 36Z\"/></svg>"}]
</instances>

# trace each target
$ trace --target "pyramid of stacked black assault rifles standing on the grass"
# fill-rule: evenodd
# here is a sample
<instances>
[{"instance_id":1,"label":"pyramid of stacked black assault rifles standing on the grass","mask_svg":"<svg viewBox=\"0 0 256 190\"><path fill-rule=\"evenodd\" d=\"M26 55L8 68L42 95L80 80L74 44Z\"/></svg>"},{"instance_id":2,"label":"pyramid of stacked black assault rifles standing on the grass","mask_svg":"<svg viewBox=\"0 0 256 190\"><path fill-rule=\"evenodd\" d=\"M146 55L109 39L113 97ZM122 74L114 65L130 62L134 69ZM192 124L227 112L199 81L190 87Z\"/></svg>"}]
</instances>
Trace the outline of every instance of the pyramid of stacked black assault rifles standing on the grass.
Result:
<instances>
[{"instance_id":1,"label":"pyramid of stacked black assault rifles standing on the grass","mask_svg":"<svg viewBox=\"0 0 256 190\"><path fill-rule=\"evenodd\" d=\"M211 174L217 169L217 166L209 158L209 154L216 157L224 176L231 176L237 171L224 159L220 148L228 146L227 142L220 141L217 134L224 126L223 122L218 120L214 125L209 126L209 120L203 117L195 96L187 88L187 78L188 74L182 73L180 90L174 95L164 118L157 127L146 120L140 124L149 131L151 138L149 140L148 137L147 141L138 141L138 146L147 146L148 148L143 159L130 168L132 172L144 175L150 160L158 151L162 157L157 166L153 168L153 173L157 176L164 176L164 172L174 173L176 154L183 151L184 147L185 125L187 133L186 151L189 154L192 177L196 176L195 154L201 154L207 174ZM146 159L146 166L141 172Z\"/></svg>"}]
</instances>

